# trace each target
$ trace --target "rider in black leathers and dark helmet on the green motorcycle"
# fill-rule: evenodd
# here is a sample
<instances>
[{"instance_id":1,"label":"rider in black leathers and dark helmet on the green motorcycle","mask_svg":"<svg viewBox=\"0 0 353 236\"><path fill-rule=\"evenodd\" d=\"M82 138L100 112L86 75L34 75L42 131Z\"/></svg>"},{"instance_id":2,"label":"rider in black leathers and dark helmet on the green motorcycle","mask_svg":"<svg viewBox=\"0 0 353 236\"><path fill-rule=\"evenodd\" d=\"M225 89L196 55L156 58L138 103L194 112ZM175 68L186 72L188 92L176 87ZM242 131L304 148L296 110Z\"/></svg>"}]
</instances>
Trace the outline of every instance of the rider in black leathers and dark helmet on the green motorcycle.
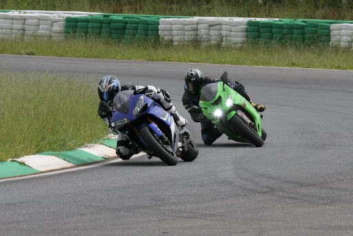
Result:
<instances>
[{"instance_id":1,"label":"rider in black leathers and dark helmet on the green motorcycle","mask_svg":"<svg viewBox=\"0 0 353 236\"><path fill-rule=\"evenodd\" d=\"M206 145L211 145L216 139L221 137L223 132L212 124L211 121L205 118L203 112L200 109L195 109L199 107L200 92L203 86L208 83L216 83L221 81L221 79L215 79L212 77L203 77L199 69L190 69L185 75L184 93L183 93L183 106L191 115L191 118L195 122L201 122L201 137ZM246 100L252 104L252 106L258 111L263 112L265 106L255 104L248 92L246 92L244 86L239 81L230 81L228 86L242 95Z\"/></svg>"}]
</instances>

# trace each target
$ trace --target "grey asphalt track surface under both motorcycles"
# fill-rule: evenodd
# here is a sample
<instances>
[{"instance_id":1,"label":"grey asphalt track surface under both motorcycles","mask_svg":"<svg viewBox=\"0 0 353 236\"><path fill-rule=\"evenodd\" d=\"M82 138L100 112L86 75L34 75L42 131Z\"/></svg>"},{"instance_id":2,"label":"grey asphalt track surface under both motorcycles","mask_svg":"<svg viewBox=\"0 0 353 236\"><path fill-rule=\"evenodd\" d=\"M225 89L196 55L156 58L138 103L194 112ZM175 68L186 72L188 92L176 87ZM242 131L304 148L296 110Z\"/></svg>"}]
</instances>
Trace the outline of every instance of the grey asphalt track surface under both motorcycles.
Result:
<instances>
[{"instance_id":1,"label":"grey asphalt track surface under both motorcycles","mask_svg":"<svg viewBox=\"0 0 353 236\"><path fill-rule=\"evenodd\" d=\"M262 148L203 144L181 104L195 67L227 70L267 106ZM7 55L0 70L166 88L199 146L177 166L139 157L0 181L0 235L353 235L353 71Z\"/></svg>"}]
</instances>

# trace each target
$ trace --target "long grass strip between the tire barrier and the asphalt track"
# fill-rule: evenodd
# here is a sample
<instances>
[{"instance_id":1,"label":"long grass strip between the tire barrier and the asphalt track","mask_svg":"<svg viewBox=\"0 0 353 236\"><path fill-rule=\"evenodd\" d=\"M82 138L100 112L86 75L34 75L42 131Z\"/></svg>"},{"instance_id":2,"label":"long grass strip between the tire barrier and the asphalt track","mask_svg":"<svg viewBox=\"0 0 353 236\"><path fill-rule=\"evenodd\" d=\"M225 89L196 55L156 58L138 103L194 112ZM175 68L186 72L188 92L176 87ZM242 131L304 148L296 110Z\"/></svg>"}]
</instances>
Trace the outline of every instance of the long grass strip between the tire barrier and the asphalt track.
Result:
<instances>
[{"instance_id":1,"label":"long grass strip between the tire barrier and the asphalt track","mask_svg":"<svg viewBox=\"0 0 353 236\"><path fill-rule=\"evenodd\" d=\"M86 50L90 48L90 50ZM281 66L353 70L351 49L329 46L273 44L241 48L193 45L112 43L111 41L68 39L67 41L4 41L1 54L181 61L248 66Z\"/></svg>"}]
</instances>

